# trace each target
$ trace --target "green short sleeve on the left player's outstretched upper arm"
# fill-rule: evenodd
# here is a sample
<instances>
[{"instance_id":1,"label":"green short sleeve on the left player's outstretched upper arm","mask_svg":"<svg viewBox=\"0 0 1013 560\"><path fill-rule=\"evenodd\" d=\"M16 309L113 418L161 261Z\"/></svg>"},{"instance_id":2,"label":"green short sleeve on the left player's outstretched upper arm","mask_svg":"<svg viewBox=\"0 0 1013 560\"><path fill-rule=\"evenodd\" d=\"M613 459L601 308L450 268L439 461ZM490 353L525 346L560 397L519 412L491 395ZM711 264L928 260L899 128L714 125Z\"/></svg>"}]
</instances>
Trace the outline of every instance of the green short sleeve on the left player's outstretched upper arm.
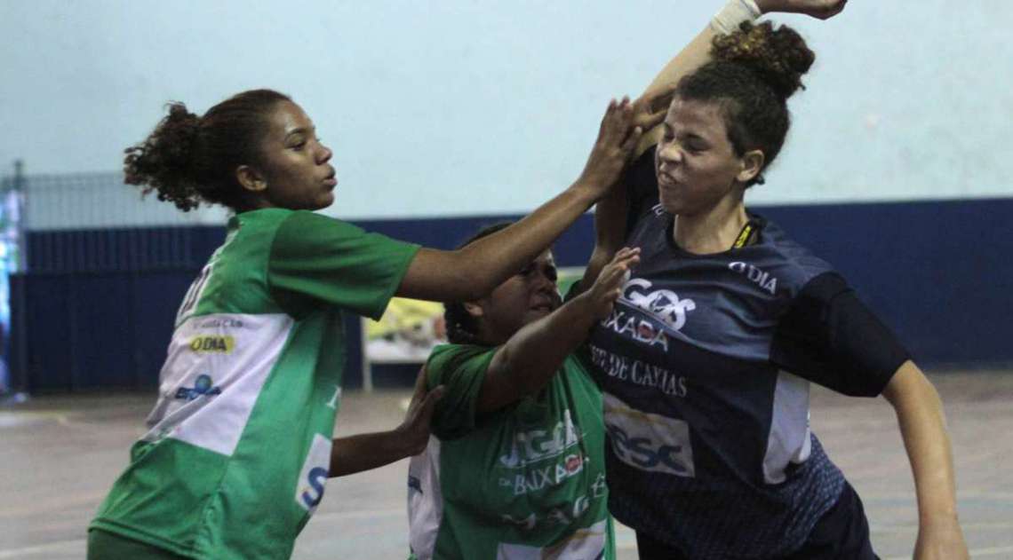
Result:
<instances>
[{"instance_id":1,"label":"green short sleeve on the left player's outstretched upper arm","mask_svg":"<svg viewBox=\"0 0 1013 560\"><path fill-rule=\"evenodd\" d=\"M339 219L293 212L275 235L267 284L292 314L323 303L378 319L417 252Z\"/></svg>"}]
</instances>

